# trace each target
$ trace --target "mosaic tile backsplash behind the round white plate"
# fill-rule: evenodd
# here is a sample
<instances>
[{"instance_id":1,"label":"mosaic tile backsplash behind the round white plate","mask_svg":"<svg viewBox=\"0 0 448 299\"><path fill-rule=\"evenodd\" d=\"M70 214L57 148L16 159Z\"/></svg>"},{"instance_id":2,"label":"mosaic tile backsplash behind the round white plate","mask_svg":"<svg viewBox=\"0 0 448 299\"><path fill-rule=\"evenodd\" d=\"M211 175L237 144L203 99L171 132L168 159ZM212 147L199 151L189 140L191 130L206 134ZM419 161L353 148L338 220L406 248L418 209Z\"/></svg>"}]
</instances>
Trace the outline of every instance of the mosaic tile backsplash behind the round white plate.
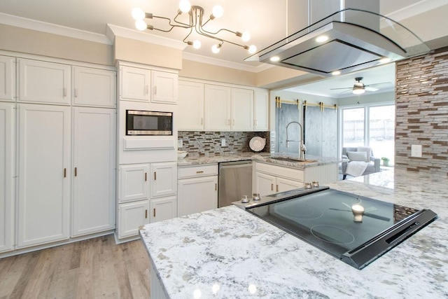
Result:
<instances>
[{"instance_id":1,"label":"mosaic tile backsplash behind the round white plate","mask_svg":"<svg viewBox=\"0 0 448 299\"><path fill-rule=\"evenodd\" d=\"M183 140L183 147L179 149L188 151L190 157L251 152L249 141L255 136L266 139L262 152L269 153L269 132L178 132L178 138ZM226 146L221 146L223 138Z\"/></svg>"}]
</instances>

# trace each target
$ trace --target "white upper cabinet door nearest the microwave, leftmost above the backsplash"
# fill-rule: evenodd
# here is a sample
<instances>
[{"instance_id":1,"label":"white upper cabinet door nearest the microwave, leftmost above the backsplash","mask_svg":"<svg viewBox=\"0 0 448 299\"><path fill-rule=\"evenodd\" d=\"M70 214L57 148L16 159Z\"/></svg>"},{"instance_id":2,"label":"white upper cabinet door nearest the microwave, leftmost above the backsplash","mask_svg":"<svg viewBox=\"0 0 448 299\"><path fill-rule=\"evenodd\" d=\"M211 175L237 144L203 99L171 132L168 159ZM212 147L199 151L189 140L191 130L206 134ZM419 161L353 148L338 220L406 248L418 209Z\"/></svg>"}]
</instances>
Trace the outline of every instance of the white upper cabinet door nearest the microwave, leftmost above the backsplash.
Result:
<instances>
[{"instance_id":1,"label":"white upper cabinet door nearest the microwave, leftmost above the backsplash","mask_svg":"<svg viewBox=\"0 0 448 299\"><path fill-rule=\"evenodd\" d=\"M204 84L179 80L178 130L204 130Z\"/></svg>"}]
</instances>

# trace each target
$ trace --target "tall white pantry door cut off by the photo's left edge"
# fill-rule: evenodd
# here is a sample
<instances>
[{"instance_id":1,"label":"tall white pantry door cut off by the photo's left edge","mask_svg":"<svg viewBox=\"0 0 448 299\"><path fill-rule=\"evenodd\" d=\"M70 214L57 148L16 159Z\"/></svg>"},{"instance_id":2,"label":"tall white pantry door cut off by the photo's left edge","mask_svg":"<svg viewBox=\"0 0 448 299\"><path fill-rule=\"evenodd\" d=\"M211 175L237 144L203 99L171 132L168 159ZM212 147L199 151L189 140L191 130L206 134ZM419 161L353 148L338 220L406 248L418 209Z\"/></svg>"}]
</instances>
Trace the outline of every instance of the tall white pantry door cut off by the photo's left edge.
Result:
<instances>
[{"instance_id":1,"label":"tall white pantry door cut off by the photo's left edge","mask_svg":"<svg viewBox=\"0 0 448 299\"><path fill-rule=\"evenodd\" d=\"M0 252L13 249L15 219L15 104L0 102Z\"/></svg>"}]
</instances>

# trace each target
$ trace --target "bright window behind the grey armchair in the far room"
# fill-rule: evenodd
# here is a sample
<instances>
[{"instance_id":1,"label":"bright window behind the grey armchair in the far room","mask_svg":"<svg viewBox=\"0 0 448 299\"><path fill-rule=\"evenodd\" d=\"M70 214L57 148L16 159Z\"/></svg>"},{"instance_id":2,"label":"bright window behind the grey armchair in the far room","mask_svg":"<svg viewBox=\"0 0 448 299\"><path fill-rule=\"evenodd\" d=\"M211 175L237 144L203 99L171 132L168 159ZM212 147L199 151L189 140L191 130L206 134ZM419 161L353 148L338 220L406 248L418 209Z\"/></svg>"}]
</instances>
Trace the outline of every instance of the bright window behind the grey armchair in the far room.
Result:
<instances>
[{"instance_id":1,"label":"bright window behind the grey armchair in the far room","mask_svg":"<svg viewBox=\"0 0 448 299\"><path fill-rule=\"evenodd\" d=\"M395 155L395 105L342 108L342 146L370 146L376 158Z\"/></svg>"}]
</instances>

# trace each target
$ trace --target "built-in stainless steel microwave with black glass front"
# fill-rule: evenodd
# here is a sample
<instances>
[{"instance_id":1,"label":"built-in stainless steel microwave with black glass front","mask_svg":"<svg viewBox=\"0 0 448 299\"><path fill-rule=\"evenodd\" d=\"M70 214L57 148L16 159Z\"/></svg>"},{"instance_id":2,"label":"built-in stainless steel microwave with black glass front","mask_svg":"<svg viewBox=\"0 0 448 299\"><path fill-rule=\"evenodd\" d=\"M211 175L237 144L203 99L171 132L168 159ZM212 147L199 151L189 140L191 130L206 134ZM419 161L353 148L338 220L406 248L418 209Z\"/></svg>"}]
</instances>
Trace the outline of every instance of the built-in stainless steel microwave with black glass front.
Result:
<instances>
[{"instance_id":1,"label":"built-in stainless steel microwave with black glass front","mask_svg":"<svg viewBox=\"0 0 448 299\"><path fill-rule=\"evenodd\" d=\"M172 135L173 113L126 110L127 135Z\"/></svg>"}]
</instances>

